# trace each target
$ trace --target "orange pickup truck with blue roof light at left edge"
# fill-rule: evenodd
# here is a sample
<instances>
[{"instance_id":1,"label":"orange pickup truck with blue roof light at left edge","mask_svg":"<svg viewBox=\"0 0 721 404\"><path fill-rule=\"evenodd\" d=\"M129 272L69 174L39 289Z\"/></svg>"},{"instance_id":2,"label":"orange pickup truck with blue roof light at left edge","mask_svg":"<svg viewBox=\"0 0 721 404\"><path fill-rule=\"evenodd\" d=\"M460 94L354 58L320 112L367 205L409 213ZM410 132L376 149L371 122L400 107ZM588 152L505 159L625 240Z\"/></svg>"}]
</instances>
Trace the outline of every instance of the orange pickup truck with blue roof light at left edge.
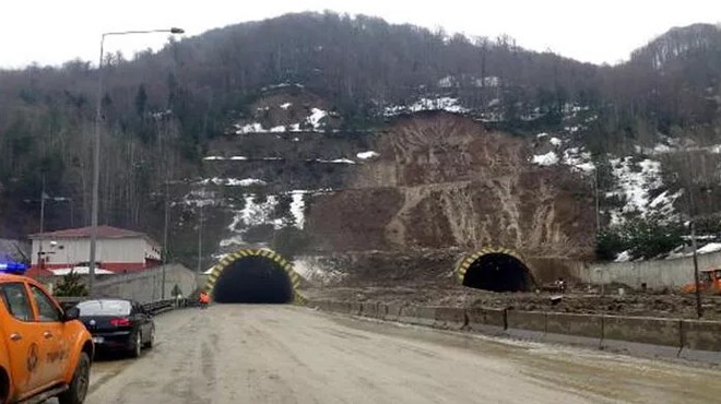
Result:
<instances>
[{"instance_id":1,"label":"orange pickup truck with blue roof light at left edge","mask_svg":"<svg viewBox=\"0 0 721 404\"><path fill-rule=\"evenodd\" d=\"M83 403L94 346L79 310L63 311L39 283L2 266L0 403Z\"/></svg>"}]
</instances>

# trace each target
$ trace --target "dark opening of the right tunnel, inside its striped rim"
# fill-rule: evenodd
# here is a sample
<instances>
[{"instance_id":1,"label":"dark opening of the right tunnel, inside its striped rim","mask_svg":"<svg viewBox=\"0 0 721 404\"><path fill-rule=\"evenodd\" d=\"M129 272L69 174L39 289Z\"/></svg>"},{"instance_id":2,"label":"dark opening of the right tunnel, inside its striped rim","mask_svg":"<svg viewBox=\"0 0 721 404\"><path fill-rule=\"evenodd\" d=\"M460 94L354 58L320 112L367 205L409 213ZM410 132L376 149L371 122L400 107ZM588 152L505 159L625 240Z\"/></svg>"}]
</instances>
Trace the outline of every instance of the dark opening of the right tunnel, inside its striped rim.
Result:
<instances>
[{"instance_id":1,"label":"dark opening of the right tunnel, inside its striped rim","mask_svg":"<svg viewBox=\"0 0 721 404\"><path fill-rule=\"evenodd\" d=\"M463 286L493 292L527 292L531 272L522 261L505 253L478 257L463 277Z\"/></svg>"}]
</instances>

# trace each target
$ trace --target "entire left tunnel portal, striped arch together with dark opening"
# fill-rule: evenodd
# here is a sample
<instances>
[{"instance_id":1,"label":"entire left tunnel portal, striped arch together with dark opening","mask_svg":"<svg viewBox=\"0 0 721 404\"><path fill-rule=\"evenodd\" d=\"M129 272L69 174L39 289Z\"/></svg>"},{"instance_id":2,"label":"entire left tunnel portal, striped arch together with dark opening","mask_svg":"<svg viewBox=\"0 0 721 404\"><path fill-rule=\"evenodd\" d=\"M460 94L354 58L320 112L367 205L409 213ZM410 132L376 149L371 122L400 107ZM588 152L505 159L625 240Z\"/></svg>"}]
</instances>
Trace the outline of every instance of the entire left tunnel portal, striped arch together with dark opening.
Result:
<instances>
[{"instance_id":1,"label":"entire left tunnel portal, striped arch together with dark opening","mask_svg":"<svg viewBox=\"0 0 721 404\"><path fill-rule=\"evenodd\" d=\"M204 289L222 304L303 302L299 281L293 265L276 252L244 249L213 266Z\"/></svg>"}]
</instances>

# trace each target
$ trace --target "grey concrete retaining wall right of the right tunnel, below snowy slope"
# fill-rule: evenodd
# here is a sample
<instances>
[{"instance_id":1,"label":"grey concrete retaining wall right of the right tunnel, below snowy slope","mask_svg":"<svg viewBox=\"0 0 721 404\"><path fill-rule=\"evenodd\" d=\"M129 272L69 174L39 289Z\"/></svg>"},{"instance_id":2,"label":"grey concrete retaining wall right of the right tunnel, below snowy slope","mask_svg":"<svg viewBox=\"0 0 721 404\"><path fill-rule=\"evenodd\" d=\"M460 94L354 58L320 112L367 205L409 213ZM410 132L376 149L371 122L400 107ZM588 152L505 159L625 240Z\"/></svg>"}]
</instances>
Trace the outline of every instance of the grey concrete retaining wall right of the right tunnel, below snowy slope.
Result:
<instances>
[{"instance_id":1,"label":"grey concrete retaining wall right of the right tunnel, below snowy slope","mask_svg":"<svg viewBox=\"0 0 721 404\"><path fill-rule=\"evenodd\" d=\"M698 266L705 270L721 264L721 251L698 256ZM694 282L690 257L642 262L612 262L577 269L579 281L592 284L618 282L631 287L679 288Z\"/></svg>"}]
</instances>

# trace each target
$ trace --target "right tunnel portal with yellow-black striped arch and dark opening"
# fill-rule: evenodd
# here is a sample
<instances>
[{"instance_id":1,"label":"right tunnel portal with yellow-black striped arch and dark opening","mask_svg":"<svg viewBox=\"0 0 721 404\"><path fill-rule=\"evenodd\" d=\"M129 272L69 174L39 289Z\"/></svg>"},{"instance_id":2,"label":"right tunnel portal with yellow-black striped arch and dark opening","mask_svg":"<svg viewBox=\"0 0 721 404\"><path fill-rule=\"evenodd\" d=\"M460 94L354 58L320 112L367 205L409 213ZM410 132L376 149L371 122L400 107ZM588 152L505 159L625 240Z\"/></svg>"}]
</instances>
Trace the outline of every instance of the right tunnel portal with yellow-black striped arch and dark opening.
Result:
<instances>
[{"instance_id":1,"label":"right tunnel portal with yellow-black striped arch and dark opening","mask_svg":"<svg viewBox=\"0 0 721 404\"><path fill-rule=\"evenodd\" d=\"M521 254L504 247L484 247L466 256L456 277L463 286L492 292L528 292L536 284Z\"/></svg>"}]
</instances>

